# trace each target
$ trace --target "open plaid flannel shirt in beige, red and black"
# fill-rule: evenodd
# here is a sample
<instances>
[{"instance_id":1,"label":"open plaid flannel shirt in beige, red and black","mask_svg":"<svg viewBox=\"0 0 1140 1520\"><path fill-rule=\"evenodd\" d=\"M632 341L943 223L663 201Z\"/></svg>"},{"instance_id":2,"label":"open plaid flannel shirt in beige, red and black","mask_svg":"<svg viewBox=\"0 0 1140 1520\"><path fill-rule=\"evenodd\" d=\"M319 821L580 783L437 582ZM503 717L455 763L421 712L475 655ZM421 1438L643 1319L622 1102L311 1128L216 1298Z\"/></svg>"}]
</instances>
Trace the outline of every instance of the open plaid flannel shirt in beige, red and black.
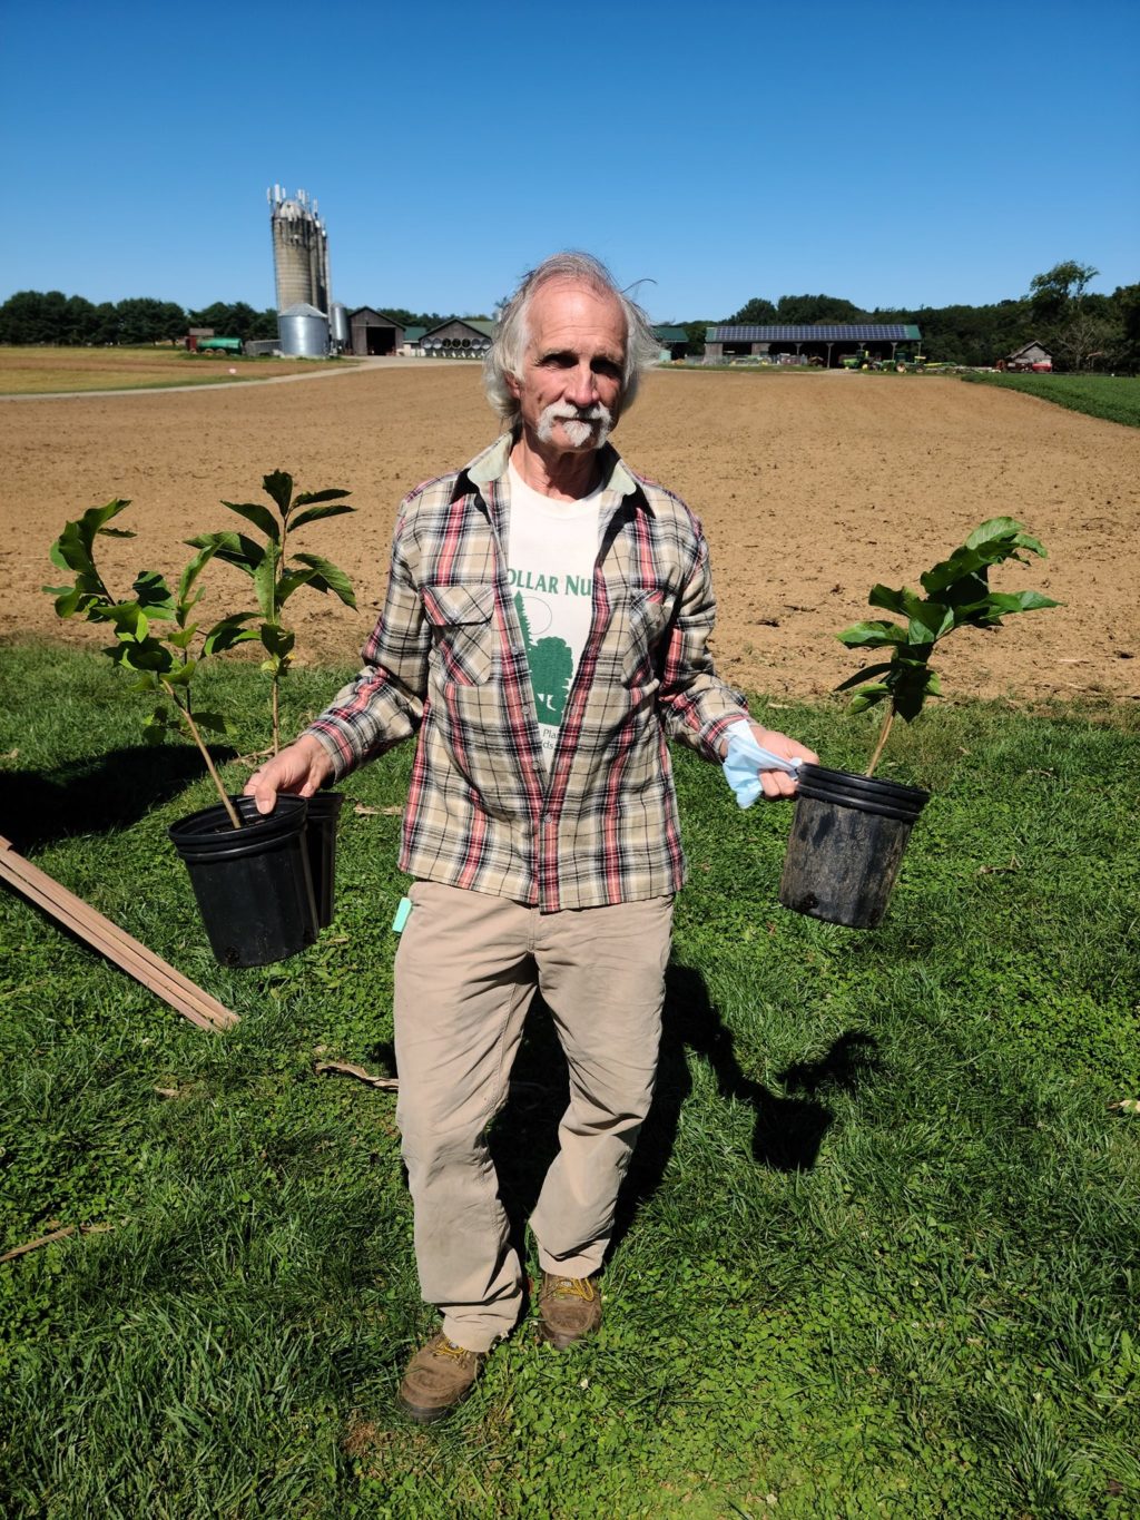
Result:
<instances>
[{"instance_id":1,"label":"open plaid flannel shirt in beige, red and black","mask_svg":"<svg viewBox=\"0 0 1140 1520\"><path fill-rule=\"evenodd\" d=\"M701 524L606 445L593 623L547 774L503 552L509 451L503 436L404 499L363 669L309 733L337 778L418 733L412 876L544 912L672 894L684 854L666 737L719 762L746 716L705 648Z\"/></svg>"}]
</instances>

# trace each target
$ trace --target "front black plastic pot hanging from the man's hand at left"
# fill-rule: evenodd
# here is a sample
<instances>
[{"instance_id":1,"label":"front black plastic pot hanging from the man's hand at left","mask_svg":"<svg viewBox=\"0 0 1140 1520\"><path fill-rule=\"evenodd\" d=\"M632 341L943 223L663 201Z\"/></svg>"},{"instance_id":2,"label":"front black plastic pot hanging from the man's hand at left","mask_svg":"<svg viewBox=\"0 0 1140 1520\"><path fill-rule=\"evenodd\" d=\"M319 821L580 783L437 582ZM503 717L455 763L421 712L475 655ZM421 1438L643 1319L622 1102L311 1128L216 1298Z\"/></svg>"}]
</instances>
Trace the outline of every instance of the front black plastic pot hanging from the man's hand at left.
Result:
<instances>
[{"instance_id":1,"label":"front black plastic pot hanging from the man's hand at left","mask_svg":"<svg viewBox=\"0 0 1140 1520\"><path fill-rule=\"evenodd\" d=\"M316 903L306 845L304 796L278 796L268 816L252 796L233 796L169 830L190 872L210 948L222 965L269 965L316 939Z\"/></svg>"}]
</instances>

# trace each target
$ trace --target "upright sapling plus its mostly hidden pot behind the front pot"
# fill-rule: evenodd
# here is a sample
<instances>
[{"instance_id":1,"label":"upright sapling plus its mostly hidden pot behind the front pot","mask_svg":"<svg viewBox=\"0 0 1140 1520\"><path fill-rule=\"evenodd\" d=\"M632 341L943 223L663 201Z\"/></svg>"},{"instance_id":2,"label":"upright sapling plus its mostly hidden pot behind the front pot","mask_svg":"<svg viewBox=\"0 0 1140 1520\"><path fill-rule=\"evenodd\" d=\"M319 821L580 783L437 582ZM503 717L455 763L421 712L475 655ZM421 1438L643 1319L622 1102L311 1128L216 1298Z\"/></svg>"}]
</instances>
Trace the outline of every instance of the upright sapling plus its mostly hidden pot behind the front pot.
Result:
<instances>
[{"instance_id":1,"label":"upright sapling plus its mostly hidden pot behind the front pot","mask_svg":"<svg viewBox=\"0 0 1140 1520\"><path fill-rule=\"evenodd\" d=\"M274 470L263 476L261 486L275 508L275 514L260 502L222 502L222 506L243 517L246 523L258 530L263 543L257 543L248 534L220 532L201 534L190 538L190 547L202 553L211 553L226 564L236 565L252 582L257 599L257 628L243 628L242 640L260 638L266 658L261 669L271 678L271 713L272 713L272 754L281 748L281 681L293 660L296 634L283 620L286 602L301 587L313 591L331 593L345 606L356 610L353 585L344 570L321 555L292 550L289 540L298 529L309 523L321 521L325 517L339 517L344 512L354 512L345 497L348 491L293 491L293 477L284 470ZM245 614L234 614L242 616ZM327 927L333 918L333 882L336 876L336 825L340 813L344 795L340 792L319 792L309 798L309 818L306 827L306 842L313 872L313 891L316 894L318 926Z\"/></svg>"}]
</instances>

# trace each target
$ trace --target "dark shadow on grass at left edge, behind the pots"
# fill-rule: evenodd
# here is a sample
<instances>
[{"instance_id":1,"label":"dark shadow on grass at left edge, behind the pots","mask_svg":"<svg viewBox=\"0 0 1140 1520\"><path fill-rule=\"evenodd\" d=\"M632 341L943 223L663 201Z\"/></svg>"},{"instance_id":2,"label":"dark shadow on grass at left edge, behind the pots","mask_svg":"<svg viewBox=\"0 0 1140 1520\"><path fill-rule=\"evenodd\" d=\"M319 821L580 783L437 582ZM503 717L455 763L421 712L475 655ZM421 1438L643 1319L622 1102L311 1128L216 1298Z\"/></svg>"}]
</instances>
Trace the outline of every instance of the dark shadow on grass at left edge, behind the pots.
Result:
<instances>
[{"instance_id":1,"label":"dark shadow on grass at left edge, behind the pots","mask_svg":"<svg viewBox=\"0 0 1140 1520\"><path fill-rule=\"evenodd\" d=\"M237 751L211 746L217 763ZM0 833L23 854L76 834L128 828L205 775L192 745L131 745L55 771L3 772Z\"/></svg>"}]
</instances>

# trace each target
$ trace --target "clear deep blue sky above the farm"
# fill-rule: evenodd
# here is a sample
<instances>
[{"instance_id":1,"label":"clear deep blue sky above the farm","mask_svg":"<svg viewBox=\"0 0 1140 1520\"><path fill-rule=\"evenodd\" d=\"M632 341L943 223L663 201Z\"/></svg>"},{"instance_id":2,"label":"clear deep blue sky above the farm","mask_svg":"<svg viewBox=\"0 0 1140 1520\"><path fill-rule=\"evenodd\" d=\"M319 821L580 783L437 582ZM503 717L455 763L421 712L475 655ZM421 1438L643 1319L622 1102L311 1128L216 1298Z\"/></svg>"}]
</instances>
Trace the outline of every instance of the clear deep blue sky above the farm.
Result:
<instances>
[{"instance_id":1,"label":"clear deep blue sky above the farm","mask_svg":"<svg viewBox=\"0 0 1140 1520\"><path fill-rule=\"evenodd\" d=\"M0 52L0 299L269 307L274 182L350 309L556 248L655 321L1140 280L1135 0L8 0Z\"/></svg>"}]
</instances>

